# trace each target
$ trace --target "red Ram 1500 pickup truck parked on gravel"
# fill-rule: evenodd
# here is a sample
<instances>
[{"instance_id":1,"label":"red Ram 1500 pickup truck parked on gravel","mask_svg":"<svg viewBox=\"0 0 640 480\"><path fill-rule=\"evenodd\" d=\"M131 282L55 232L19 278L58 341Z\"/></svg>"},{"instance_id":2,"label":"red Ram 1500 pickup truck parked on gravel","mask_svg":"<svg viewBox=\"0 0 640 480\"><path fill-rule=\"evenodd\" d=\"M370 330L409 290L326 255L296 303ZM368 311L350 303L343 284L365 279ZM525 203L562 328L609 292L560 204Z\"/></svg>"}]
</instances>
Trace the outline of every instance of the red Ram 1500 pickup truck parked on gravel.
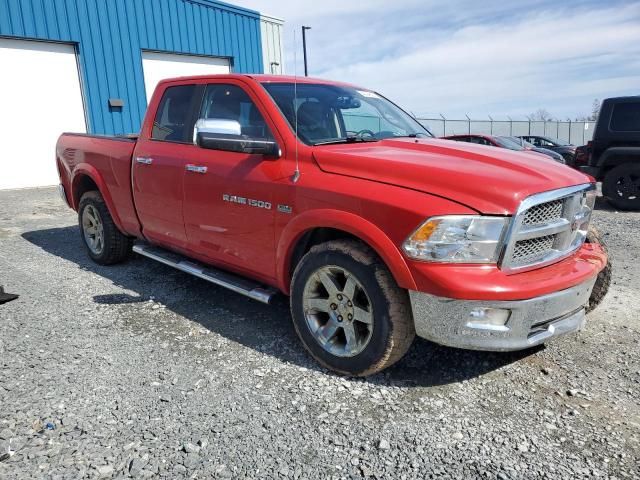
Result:
<instances>
[{"instance_id":1,"label":"red Ram 1500 pickup truck parked on gravel","mask_svg":"<svg viewBox=\"0 0 640 480\"><path fill-rule=\"evenodd\" d=\"M63 134L90 257L133 250L268 303L327 368L369 375L414 336L517 350L579 329L607 262L593 179L438 140L380 94L308 78L162 81L139 136Z\"/></svg>"}]
</instances>

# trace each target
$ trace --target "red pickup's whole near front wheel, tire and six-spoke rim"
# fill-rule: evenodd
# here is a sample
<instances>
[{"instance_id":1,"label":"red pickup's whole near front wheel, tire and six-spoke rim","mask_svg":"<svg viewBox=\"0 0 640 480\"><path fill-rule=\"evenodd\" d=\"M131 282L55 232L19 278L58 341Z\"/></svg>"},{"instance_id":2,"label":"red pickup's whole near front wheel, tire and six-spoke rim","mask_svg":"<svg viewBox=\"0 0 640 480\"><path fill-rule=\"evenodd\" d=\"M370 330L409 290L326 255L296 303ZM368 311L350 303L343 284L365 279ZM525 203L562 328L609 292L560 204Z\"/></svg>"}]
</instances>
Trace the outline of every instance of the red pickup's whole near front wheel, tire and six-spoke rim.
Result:
<instances>
[{"instance_id":1,"label":"red pickup's whole near front wheel, tire and six-spoke rim","mask_svg":"<svg viewBox=\"0 0 640 480\"><path fill-rule=\"evenodd\" d=\"M397 362L415 329L406 290L364 244L313 247L293 275L291 313L303 345L334 372L367 376Z\"/></svg>"}]
</instances>

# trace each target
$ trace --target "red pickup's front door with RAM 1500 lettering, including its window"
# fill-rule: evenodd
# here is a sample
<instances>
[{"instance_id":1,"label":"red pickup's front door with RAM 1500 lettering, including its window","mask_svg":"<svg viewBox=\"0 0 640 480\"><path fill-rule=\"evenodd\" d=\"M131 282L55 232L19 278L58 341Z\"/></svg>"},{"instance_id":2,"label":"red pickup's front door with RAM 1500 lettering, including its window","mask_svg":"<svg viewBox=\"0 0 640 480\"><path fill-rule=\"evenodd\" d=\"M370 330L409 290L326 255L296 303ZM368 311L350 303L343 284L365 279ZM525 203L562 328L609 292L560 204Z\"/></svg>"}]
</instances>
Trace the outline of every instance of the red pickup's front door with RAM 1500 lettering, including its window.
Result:
<instances>
[{"instance_id":1,"label":"red pickup's front door with RAM 1500 lettering, including its window","mask_svg":"<svg viewBox=\"0 0 640 480\"><path fill-rule=\"evenodd\" d=\"M207 86L199 118L234 120L246 138L273 139L256 99L228 80ZM275 277L275 189L281 162L194 147L184 177L190 249L268 281Z\"/></svg>"}]
</instances>

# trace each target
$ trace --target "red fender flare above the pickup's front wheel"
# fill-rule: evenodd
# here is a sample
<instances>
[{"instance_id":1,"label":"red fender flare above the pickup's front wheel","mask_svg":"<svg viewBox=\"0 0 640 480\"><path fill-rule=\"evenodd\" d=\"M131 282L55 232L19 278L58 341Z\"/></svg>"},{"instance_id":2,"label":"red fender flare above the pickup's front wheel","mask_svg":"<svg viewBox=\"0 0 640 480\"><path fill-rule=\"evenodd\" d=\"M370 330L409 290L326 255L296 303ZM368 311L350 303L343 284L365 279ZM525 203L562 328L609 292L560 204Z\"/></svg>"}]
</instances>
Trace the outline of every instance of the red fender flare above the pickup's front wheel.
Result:
<instances>
[{"instance_id":1,"label":"red fender flare above the pickup's front wheel","mask_svg":"<svg viewBox=\"0 0 640 480\"><path fill-rule=\"evenodd\" d=\"M290 293L289 270L295 246L306 232L315 228L333 228L360 238L380 256L398 285L410 290L416 289L405 258L380 228L353 213L319 209L298 215L286 225L280 235L276 250L276 278L278 288L287 295Z\"/></svg>"}]
</instances>

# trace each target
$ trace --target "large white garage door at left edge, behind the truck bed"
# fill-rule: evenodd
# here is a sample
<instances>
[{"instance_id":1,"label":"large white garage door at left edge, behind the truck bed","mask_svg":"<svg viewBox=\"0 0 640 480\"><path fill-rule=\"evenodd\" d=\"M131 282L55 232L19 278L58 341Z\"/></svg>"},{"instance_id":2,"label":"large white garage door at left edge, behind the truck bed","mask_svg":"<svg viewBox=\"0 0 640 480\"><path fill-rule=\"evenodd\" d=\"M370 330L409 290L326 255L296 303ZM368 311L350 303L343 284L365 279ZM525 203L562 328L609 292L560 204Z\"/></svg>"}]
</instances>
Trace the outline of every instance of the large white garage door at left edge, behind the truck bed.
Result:
<instances>
[{"instance_id":1,"label":"large white garage door at left edge, behind the truck bed","mask_svg":"<svg viewBox=\"0 0 640 480\"><path fill-rule=\"evenodd\" d=\"M86 132L72 45L0 38L0 189L58 183L60 133Z\"/></svg>"}]
</instances>

